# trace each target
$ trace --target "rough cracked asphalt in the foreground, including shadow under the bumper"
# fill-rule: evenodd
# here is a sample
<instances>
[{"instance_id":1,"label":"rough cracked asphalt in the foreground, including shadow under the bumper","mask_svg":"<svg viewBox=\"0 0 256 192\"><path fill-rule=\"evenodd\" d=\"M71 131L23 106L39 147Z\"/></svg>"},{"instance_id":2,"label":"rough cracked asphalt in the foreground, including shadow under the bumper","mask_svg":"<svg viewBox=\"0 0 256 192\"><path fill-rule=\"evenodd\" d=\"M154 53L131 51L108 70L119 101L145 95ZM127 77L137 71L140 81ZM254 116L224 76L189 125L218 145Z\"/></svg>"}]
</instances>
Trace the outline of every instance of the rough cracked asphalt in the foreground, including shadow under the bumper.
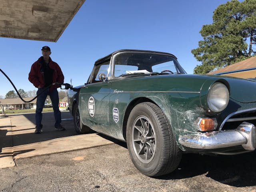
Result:
<instances>
[{"instance_id":1,"label":"rough cracked asphalt in the foreground, including shadow under the bumper","mask_svg":"<svg viewBox=\"0 0 256 192\"><path fill-rule=\"evenodd\" d=\"M147 177L125 143L15 160L0 169L2 192L256 192L256 153L184 154L177 170Z\"/></svg>"}]
</instances>

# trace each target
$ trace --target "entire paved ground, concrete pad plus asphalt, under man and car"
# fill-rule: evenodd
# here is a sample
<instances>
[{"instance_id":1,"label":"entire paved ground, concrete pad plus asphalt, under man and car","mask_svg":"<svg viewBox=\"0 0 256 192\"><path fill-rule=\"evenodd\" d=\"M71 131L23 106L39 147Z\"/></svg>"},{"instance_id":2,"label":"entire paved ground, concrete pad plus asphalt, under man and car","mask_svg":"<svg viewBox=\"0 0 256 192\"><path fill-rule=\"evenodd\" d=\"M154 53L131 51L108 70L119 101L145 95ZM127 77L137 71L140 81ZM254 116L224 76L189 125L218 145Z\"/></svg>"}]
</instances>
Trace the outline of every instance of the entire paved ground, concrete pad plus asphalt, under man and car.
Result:
<instances>
[{"instance_id":1,"label":"entire paved ground, concrete pad plus asphalt, under man and car","mask_svg":"<svg viewBox=\"0 0 256 192\"><path fill-rule=\"evenodd\" d=\"M34 123L34 114L0 118L2 192L256 192L255 152L183 154L174 172L150 178L134 167L124 142L78 135L68 112L66 131L54 130L52 113L43 114L42 134Z\"/></svg>"}]
</instances>

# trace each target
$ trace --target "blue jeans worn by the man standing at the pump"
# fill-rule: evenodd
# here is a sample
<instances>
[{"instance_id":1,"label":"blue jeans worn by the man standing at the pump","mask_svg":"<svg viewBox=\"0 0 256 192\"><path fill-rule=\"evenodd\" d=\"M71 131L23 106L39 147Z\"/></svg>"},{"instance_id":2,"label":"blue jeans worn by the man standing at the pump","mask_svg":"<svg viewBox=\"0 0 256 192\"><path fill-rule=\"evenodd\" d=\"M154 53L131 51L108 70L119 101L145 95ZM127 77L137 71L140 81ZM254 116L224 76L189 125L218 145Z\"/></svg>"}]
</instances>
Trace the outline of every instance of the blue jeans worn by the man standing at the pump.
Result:
<instances>
[{"instance_id":1,"label":"blue jeans worn by the man standing at the pump","mask_svg":"<svg viewBox=\"0 0 256 192\"><path fill-rule=\"evenodd\" d=\"M38 88L36 95L40 94L44 88ZM52 107L54 111L55 124L54 127L60 126L61 123L61 114L59 109L59 94L57 89L54 89L52 92L49 92L49 88L46 89L42 94L40 94L36 100L36 128L42 128L42 110L44 108L44 102L47 95L50 96L52 101Z\"/></svg>"}]
</instances>

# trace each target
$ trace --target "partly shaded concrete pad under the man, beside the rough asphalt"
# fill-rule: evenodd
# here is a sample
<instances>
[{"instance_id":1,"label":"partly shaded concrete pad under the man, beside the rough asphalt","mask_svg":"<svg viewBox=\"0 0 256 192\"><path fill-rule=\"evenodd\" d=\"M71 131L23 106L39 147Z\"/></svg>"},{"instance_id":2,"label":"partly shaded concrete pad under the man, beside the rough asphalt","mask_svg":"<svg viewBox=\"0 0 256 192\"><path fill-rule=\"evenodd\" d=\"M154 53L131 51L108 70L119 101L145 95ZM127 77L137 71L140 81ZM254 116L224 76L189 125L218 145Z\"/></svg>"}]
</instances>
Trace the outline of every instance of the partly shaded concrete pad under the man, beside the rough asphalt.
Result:
<instances>
[{"instance_id":1,"label":"partly shaded concrete pad under the man, beside the rough asphalt","mask_svg":"<svg viewBox=\"0 0 256 192\"><path fill-rule=\"evenodd\" d=\"M15 166L15 159L114 144L98 133L77 134L69 112L61 112L65 131L54 129L53 112L43 113L42 134L34 134L35 114L0 118L0 168Z\"/></svg>"}]
</instances>

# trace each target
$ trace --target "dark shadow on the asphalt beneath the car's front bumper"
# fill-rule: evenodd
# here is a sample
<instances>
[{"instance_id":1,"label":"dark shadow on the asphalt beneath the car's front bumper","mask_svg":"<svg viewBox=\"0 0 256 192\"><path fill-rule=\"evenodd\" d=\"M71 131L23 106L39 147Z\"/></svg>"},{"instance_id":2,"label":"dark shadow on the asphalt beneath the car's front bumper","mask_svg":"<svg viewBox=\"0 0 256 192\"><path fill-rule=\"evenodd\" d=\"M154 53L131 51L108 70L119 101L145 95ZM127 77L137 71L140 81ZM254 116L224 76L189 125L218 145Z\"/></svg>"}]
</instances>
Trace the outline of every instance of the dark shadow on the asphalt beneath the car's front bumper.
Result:
<instances>
[{"instance_id":1,"label":"dark shadow on the asphalt beneath the car's front bumper","mask_svg":"<svg viewBox=\"0 0 256 192\"><path fill-rule=\"evenodd\" d=\"M255 164L256 152L232 156L183 154L178 169L158 179L183 179L205 174L206 177L230 186L255 186Z\"/></svg>"}]
</instances>

